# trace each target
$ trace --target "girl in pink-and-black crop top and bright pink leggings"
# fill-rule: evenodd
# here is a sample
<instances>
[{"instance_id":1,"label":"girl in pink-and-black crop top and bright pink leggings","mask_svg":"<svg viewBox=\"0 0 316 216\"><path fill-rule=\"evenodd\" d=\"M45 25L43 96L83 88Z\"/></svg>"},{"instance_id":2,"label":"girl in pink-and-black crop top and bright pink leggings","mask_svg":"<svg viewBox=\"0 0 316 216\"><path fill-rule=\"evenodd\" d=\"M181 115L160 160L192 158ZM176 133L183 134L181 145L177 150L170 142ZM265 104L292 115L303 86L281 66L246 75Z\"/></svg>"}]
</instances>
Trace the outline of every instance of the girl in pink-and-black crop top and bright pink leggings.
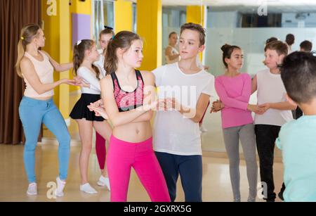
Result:
<instances>
[{"instance_id":1,"label":"girl in pink-and-black crop top and bright pink leggings","mask_svg":"<svg viewBox=\"0 0 316 216\"><path fill-rule=\"evenodd\" d=\"M126 202L132 167L152 201L170 201L164 174L152 148L150 120L156 105L149 102L156 99L154 75L134 69L140 68L142 51L143 42L138 34L127 31L116 34L105 54L104 68L108 75L100 81L105 109L97 104L89 106L97 115L109 118L113 125L107 153L112 202ZM134 86L135 81L134 91L121 88L123 84Z\"/></svg>"}]
</instances>

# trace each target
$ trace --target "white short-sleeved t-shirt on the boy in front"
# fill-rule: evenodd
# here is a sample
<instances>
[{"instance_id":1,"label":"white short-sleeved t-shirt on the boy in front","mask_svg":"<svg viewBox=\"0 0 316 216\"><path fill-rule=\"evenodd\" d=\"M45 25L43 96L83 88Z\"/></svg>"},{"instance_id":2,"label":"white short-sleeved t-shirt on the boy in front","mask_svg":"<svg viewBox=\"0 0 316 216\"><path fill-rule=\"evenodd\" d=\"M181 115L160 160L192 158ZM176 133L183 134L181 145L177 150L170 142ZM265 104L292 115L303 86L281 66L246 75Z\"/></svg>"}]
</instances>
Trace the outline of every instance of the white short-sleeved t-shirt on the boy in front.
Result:
<instances>
[{"instance_id":1,"label":"white short-sleeved t-shirt on the boy in front","mask_svg":"<svg viewBox=\"0 0 316 216\"><path fill-rule=\"evenodd\" d=\"M178 63L173 63L159 67L153 73L159 99L173 96L183 106L196 108L201 94L215 96L214 77L205 70L186 75ZM154 151L175 155L202 155L199 123L185 118L176 110L156 112L153 137Z\"/></svg>"}]
</instances>

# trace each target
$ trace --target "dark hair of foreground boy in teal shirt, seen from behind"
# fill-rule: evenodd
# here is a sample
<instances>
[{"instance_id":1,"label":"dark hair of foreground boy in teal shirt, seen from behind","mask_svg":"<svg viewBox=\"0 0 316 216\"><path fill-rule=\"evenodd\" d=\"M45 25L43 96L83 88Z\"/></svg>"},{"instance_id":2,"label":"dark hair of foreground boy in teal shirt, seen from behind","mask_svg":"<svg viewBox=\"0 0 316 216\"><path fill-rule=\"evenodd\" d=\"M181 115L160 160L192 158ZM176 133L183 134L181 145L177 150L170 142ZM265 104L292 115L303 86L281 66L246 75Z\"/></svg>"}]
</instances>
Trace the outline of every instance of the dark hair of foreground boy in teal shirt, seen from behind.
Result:
<instances>
[{"instance_id":1,"label":"dark hair of foreground boy in teal shirt, seen from behind","mask_svg":"<svg viewBox=\"0 0 316 216\"><path fill-rule=\"evenodd\" d=\"M280 66L287 94L296 103L308 103L316 97L316 57L296 51L284 58Z\"/></svg>"}]
</instances>

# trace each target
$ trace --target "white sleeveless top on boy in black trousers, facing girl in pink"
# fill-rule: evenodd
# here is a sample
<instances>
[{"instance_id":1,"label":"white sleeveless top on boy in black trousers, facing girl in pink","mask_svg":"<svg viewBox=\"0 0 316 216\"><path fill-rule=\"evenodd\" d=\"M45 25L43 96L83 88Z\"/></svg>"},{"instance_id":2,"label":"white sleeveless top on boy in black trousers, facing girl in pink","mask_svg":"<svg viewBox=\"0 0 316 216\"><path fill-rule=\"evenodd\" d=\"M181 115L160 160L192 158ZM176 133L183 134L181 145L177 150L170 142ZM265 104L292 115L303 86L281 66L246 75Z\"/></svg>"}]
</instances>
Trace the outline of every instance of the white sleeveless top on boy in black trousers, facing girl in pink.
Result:
<instances>
[{"instance_id":1,"label":"white sleeveless top on boy in black trousers, facing girl in pink","mask_svg":"<svg viewBox=\"0 0 316 216\"><path fill-rule=\"evenodd\" d=\"M269 69L258 72L257 76L257 99L258 105L263 103L279 103L287 101L284 84L281 75L275 75ZM291 110L268 109L263 115L255 115L255 125L282 126L293 120Z\"/></svg>"}]
</instances>

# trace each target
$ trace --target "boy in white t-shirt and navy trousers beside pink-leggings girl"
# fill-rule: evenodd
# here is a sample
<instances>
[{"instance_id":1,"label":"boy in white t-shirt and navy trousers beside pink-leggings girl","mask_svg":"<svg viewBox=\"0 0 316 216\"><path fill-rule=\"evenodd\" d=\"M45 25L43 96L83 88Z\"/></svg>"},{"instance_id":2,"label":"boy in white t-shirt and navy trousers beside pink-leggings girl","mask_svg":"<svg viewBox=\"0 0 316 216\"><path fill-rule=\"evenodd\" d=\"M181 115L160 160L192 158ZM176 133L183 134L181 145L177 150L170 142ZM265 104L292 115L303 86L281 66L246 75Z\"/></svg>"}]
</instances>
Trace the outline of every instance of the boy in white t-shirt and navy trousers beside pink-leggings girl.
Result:
<instances>
[{"instance_id":1,"label":"boy in white t-shirt and navy trousers beside pink-leggings girl","mask_svg":"<svg viewBox=\"0 0 316 216\"><path fill-rule=\"evenodd\" d=\"M214 96L214 77L198 68L205 48L205 30L181 27L180 61L153 71L159 88L159 111L154 120L154 151L164 172L171 201L176 200L180 174L185 201L202 201L202 149L199 121Z\"/></svg>"}]
</instances>

